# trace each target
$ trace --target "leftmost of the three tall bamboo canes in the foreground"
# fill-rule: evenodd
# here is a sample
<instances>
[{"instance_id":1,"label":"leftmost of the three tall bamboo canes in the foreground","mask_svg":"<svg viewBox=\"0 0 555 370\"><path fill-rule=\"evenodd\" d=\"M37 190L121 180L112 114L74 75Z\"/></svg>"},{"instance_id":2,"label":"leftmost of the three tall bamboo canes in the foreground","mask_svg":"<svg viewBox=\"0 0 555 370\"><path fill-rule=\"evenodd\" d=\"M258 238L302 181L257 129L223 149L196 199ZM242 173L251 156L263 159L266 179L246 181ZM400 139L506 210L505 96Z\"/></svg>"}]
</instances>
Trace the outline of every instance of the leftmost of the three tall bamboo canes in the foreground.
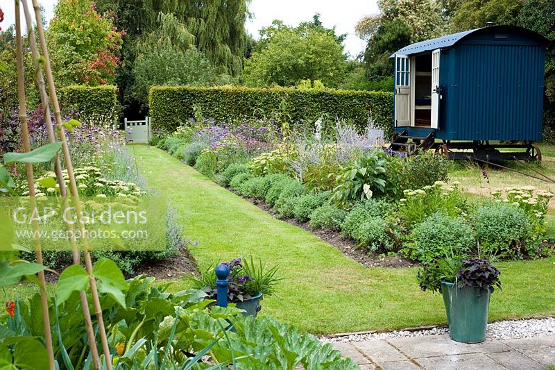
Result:
<instances>
[{"instance_id":1,"label":"leftmost of the three tall bamboo canes in the foreground","mask_svg":"<svg viewBox=\"0 0 555 370\"><path fill-rule=\"evenodd\" d=\"M17 53L17 98L19 100L19 123L22 126L23 148L25 152L31 151L31 143L29 142L29 130L27 126L27 106L25 101L25 79L23 74L23 48L22 48L22 26L19 18L19 3L15 1L15 45ZM29 187L29 197L31 199L31 209L35 209L37 201L35 199L35 178L33 177L33 165L26 163L27 184ZM33 245L37 255L37 263L42 264L42 247L38 236L39 223L33 218ZM54 349L52 346L52 334L50 329L50 315L48 312L48 294L46 294L46 280L44 280L44 271L38 273L40 283L40 305L42 309L42 324L44 327L44 343L48 352L48 362L51 370L56 369L54 362Z\"/></svg>"}]
</instances>

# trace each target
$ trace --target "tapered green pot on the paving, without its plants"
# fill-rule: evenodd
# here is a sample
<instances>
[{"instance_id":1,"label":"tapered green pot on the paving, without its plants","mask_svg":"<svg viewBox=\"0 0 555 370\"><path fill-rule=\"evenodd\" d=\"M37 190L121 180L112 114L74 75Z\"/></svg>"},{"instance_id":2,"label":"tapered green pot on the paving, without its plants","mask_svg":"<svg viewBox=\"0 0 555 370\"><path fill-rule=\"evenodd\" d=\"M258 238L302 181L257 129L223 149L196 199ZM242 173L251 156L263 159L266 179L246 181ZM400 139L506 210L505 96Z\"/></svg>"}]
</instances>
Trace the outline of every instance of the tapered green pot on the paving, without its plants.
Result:
<instances>
[{"instance_id":1,"label":"tapered green pot on the paving, without its plants","mask_svg":"<svg viewBox=\"0 0 555 370\"><path fill-rule=\"evenodd\" d=\"M453 283L441 282L443 303L447 311L449 335L456 342L479 343L486 340L490 292L479 288L459 288Z\"/></svg>"}]
</instances>

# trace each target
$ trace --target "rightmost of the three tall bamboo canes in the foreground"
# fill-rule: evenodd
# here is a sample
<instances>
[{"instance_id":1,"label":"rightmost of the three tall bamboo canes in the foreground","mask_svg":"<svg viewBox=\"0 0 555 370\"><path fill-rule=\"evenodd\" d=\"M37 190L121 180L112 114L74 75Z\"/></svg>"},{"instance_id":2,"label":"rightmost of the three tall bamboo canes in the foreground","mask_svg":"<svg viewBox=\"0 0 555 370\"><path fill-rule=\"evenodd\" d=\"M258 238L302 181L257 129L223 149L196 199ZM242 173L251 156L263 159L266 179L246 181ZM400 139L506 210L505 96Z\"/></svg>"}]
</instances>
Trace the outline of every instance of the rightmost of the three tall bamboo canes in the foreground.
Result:
<instances>
[{"instance_id":1,"label":"rightmost of the three tall bamboo canes in the foreground","mask_svg":"<svg viewBox=\"0 0 555 370\"><path fill-rule=\"evenodd\" d=\"M73 165L71 164L71 155L69 154L69 146L67 146L67 140L65 137L62 114L60 112L60 104L58 103L58 96L56 94L56 85L54 83L52 69L50 65L50 56L48 53L48 48L46 47L46 37L44 37L44 29L42 28L42 17L40 15L40 8L36 0L33 0L33 8L35 10L35 19L37 21L37 33L38 33L38 37L39 37L39 41L42 49L42 54L44 56L44 72L46 73L46 81L48 82L49 93L51 96L52 106L54 110L54 117L56 118L56 122L58 124L58 133L60 135L60 142L62 142L62 151L64 153L65 165L67 167L67 174L69 176L69 185L71 188L71 194L74 197L76 213L77 215L80 215L81 206L79 203L79 193L77 190L77 183L75 180ZM27 15L28 9L27 9L27 4L25 0L24 0L24 10ZM100 298L99 298L99 291L96 287L96 280L93 274L92 260L91 260L89 245L88 245L87 237L85 233L85 225L83 225L83 223L80 221L80 217L78 217L78 220L79 220L78 224L81 230L81 234L83 235L85 267L89 274L89 283L91 286L92 301L94 304L94 309L96 311L95 312L96 319L99 322L99 335L102 342L106 369L112 370L112 360L110 358L110 346L108 345L108 337L106 336L106 330L105 330L103 315L102 315L102 307L101 307Z\"/></svg>"}]
</instances>

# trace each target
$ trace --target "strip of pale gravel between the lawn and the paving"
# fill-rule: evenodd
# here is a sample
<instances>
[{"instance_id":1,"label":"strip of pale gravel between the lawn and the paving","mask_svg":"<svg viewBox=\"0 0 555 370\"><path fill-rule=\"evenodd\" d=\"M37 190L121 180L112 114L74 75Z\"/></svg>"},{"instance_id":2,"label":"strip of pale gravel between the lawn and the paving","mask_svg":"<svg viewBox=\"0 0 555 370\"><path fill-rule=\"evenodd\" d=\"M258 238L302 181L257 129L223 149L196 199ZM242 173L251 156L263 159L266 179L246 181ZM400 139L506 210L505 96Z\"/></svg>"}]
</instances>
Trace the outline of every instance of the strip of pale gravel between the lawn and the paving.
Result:
<instances>
[{"instance_id":1,"label":"strip of pale gravel between the lawn and the paving","mask_svg":"<svg viewBox=\"0 0 555 370\"><path fill-rule=\"evenodd\" d=\"M368 339L392 339L402 337L424 337L449 333L448 328L430 328L426 330L395 330L386 333L353 333L338 337L321 337L325 343L362 342ZM486 335L495 339L518 339L537 337L539 335L555 335L555 317L545 319L522 319L497 321L488 324Z\"/></svg>"}]
</instances>

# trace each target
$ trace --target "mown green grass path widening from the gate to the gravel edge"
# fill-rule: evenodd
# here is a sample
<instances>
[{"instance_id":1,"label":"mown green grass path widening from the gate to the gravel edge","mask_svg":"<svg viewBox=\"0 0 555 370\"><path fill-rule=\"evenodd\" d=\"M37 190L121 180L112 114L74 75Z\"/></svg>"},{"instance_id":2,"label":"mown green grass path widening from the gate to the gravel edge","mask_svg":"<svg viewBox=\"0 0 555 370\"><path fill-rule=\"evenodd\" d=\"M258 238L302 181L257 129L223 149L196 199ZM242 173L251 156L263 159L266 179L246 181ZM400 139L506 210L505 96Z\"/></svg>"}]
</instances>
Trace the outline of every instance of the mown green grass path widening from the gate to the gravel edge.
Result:
<instances>
[{"instance_id":1,"label":"mown green grass path widening from the gate to the gravel edge","mask_svg":"<svg viewBox=\"0 0 555 370\"><path fill-rule=\"evenodd\" d=\"M421 292L416 269L367 269L305 230L274 219L160 149L134 147L139 171L182 217L200 264L252 254L280 264L277 296L263 313L311 333L445 323L439 294ZM490 320L555 314L555 259L502 264ZM185 280L175 289L185 287Z\"/></svg>"}]
</instances>

